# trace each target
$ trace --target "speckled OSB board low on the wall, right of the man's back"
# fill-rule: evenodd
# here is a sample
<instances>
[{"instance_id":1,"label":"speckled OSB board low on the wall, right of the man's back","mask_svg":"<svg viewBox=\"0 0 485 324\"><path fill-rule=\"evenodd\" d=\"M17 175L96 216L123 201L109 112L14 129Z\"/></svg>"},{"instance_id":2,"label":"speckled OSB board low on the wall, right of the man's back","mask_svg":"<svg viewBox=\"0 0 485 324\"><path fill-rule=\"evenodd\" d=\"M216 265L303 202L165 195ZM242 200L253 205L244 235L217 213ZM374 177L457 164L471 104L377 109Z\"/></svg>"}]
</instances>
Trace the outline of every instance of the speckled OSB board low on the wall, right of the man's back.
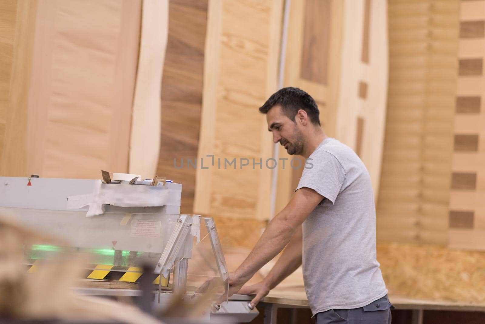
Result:
<instances>
[{"instance_id":1,"label":"speckled OSB board low on the wall, right of the man's back","mask_svg":"<svg viewBox=\"0 0 485 324\"><path fill-rule=\"evenodd\" d=\"M436 244L379 243L377 260L389 295L485 303L485 252Z\"/></svg>"}]
</instances>

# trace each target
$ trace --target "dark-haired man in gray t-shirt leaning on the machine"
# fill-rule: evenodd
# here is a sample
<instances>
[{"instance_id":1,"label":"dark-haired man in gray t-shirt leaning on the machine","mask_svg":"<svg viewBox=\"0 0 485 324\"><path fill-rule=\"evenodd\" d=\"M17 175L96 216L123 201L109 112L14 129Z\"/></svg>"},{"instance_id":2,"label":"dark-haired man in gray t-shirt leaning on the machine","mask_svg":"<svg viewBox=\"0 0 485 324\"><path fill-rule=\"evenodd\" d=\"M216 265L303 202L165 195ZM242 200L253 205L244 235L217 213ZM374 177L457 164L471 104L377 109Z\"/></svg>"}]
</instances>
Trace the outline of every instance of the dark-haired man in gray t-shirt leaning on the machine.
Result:
<instances>
[{"instance_id":1,"label":"dark-haired man in gray t-shirt leaning on the machine","mask_svg":"<svg viewBox=\"0 0 485 324\"><path fill-rule=\"evenodd\" d=\"M392 305L376 260L374 197L364 164L350 147L325 135L315 100L305 91L283 88L259 111L266 114L273 141L313 166L307 164L288 205L229 275L229 295L255 295L254 307L303 264L317 324L390 323ZM285 246L263 281L242 288Z\"/></svg>"}]
</instances>

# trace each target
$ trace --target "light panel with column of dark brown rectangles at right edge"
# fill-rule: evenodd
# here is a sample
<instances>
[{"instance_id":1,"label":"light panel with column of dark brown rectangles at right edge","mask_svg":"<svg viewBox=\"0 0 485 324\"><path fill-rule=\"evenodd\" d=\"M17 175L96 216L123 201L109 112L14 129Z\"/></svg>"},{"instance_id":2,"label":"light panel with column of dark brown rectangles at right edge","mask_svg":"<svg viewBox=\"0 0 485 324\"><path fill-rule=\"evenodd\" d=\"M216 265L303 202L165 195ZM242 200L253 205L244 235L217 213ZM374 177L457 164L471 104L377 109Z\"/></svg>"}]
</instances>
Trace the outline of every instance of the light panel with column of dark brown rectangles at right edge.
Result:
<instances>
[{"instance_id":1,"label":"light panel with column of dark brown rectangles at right edge","mask_svg":"<svg viewBox=\"0 0 485 324\"><path fill-rule=\"evenodd\" d=\"M485 250L485 1L461 1L449 244Z\"/></svg>"}]
</instances>

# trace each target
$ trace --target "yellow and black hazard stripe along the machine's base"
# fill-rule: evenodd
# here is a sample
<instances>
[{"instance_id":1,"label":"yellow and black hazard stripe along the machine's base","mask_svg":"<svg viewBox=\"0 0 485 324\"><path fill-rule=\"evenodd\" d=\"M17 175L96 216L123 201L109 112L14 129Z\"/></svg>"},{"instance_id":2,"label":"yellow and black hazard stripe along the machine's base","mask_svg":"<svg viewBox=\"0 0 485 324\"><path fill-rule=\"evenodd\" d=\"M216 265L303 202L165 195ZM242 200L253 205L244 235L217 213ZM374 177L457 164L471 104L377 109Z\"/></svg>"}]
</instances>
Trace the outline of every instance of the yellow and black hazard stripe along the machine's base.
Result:
<instances>
[{"instance_id":1,"label":"yellow and black hazard stripe along the machine's base","mask_svg":"<svg viewBox=\"0 0 485 324\"><path fill-rule=\"evenodd\" d=\"M29 273L37 270L39 260L32 260L32 264L29 265ZM150 276L150 281L153 284L158 285L160 281L160 275L154 273L143 273L142 268L138 267L122 267L113 266L108 264L96 264L89 270L86 270L85 277L88 279L98 280L114 280L124 282L141 282L145 276ZM169 277L170 278L170 277ZM162 287L168 287L169 278L162 276Z\"/></svg>"}]
</instances>

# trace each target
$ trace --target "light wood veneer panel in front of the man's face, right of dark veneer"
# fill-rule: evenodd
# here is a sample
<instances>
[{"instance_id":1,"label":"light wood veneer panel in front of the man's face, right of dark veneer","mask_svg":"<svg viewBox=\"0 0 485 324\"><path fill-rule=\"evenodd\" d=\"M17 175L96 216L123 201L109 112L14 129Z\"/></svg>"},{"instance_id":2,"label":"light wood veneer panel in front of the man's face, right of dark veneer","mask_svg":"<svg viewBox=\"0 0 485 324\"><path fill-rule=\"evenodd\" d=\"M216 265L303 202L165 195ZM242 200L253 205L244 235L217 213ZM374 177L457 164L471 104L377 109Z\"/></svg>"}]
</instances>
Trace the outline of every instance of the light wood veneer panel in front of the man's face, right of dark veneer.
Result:
<instances>
[{"instance_id":1,"label":"light wood veneer panel in front of the man's face, right of dark veneer","mask_svg":"<svg viewBox=\"0 0 485 324\"><path fill-rule=\"evenodd\" d=\"M265 162L273 146L257 108L276 91L282 2L209 2L196 213L270 217L271 169ZM213 163L207 155L214 156ZM225 159L236 159L236 169L226 168ZM251 164L242 166L241 159ZM253 159L262 159L262 165L253 169Z\"/></svg>"}]
</instances>

